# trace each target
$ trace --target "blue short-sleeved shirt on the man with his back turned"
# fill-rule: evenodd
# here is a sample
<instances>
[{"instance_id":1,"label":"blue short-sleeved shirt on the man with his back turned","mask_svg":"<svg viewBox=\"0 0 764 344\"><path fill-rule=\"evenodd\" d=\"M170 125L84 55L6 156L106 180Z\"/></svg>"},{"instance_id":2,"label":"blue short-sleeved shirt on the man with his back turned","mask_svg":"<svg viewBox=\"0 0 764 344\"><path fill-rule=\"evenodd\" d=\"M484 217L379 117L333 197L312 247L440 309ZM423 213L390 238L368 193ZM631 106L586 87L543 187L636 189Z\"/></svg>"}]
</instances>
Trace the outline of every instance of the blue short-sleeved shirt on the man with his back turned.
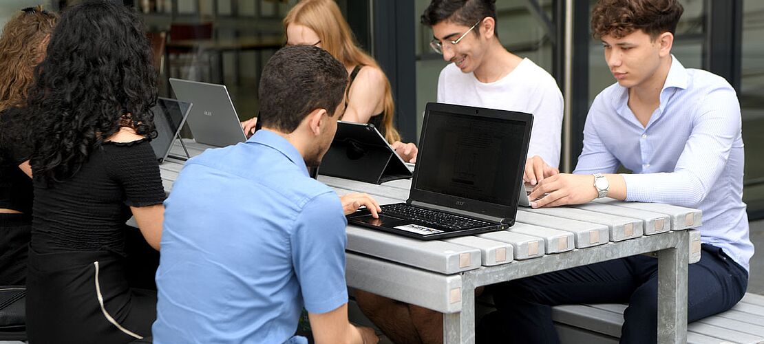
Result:
<instances>
[{"instance_id":1,"label":"blue short-sleeved shirt on the man with his back turned","mask_svg":"<svg viewBox=\"0 0 764 344\"><path fill-rule=\"evenodd\" d=\"M293 342L348 302L339 197L274 132L190 159L164 204L155 343Z\"/></svg>"}]
</instances>

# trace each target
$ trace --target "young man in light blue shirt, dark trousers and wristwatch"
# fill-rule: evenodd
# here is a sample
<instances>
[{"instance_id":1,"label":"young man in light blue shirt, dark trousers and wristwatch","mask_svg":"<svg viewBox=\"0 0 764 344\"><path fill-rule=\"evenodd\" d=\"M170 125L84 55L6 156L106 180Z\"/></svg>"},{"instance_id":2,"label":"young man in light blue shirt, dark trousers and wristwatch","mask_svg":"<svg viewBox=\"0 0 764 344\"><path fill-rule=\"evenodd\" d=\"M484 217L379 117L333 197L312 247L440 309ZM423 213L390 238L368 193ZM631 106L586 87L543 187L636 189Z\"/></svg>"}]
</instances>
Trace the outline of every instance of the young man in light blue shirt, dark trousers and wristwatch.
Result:
<instances>
[{"instance_id":1,"label":"young man in light blue shirt, dark trousers and wristwatch","mask_svg":"<svg viewBox=\"0 0 764 344\"><path fill-rule=\"evenodd\" d=\"M592 32L617 83L591 105L574 174L545 178L533 207L618 200L703 211L701 261L689 266L688 321L729 310L746 292L753 245L743 195L740 105L720 76L672 56L676 0L600 0ZM623 165L633 174L614 174ZM629 303L621 342L656 342L657 260L607 261L494 287L483 328L516 342L558 342L550 306ZM492 332L492 333L491 333Z\"/></svg>"}]
</instances>

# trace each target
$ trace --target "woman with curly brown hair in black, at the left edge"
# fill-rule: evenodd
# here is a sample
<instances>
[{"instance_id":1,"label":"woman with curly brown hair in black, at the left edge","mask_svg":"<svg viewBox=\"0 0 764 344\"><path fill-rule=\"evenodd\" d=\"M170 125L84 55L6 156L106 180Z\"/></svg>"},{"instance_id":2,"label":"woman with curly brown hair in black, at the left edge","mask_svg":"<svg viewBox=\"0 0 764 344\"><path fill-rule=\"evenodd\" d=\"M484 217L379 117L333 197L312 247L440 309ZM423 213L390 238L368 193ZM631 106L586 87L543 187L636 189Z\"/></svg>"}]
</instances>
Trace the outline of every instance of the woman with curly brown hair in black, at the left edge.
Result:
<instances>
[{"instance_id":1,"label":"woman with curly brown hair in black, at the left edge","mask_svg":"<svg viewBox=\"0 0 764 344\"><path fill-rule=\"evenodd\" d=\"M40 6L24 8L0 37L0 285L23 285L27 275L32 180L29 150L15 127L24 122L20 108L57 18Z\"/></svg>"}]
</instances>

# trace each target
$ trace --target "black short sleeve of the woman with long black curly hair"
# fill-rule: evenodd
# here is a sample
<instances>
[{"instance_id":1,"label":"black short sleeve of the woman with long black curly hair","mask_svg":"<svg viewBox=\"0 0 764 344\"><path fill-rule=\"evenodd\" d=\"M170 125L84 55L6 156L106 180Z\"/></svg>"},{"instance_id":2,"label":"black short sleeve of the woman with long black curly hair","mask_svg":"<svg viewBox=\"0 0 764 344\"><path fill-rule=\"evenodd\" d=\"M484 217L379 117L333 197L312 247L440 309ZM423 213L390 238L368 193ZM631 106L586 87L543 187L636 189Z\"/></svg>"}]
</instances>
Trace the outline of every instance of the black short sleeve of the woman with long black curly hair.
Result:
<instances>
[{"instance_id":1,"label":"black short sleeve of the woman with long black curly hair","mask_svg":"<svg viewBox=\"0 0 764 344\"><path fill-rule=\"evenodd\" d=\"M164 201L159 163L147 140L116 144L110 173L125 192L127 206L153 206Z\"/></svg>"}]
</instances>

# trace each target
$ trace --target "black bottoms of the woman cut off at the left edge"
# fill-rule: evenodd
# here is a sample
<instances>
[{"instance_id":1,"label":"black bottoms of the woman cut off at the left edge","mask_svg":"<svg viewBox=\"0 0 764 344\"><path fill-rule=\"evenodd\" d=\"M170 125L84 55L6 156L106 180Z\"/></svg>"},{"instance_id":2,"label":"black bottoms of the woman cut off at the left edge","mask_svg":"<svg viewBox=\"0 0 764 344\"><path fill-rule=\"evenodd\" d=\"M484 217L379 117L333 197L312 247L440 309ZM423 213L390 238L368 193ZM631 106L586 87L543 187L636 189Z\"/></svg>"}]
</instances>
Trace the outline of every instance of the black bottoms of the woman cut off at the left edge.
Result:
<instances>
[{"instance_id":1,"label":"black bottoms of the woman cut off at the left edge","mask_svg":"<svg viewBox=\"0 0 764 344\"><path fill-rule=\"evenodd\" d=\"M0 214L0 286L25 283L31 223L27 214Z\"/></svg>"}]
</instances>

